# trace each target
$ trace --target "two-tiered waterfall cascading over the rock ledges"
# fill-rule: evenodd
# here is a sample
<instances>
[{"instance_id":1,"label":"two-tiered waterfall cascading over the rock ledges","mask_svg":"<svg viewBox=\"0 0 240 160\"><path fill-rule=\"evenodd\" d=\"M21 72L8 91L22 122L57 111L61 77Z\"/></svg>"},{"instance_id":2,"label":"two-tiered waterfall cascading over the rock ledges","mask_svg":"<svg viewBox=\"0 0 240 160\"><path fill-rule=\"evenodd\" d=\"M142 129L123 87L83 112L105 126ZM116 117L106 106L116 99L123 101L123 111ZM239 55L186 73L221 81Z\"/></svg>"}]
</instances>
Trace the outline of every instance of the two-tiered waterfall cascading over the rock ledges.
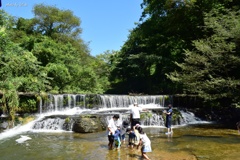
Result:
<instances>
[{"instance_id":1,"label":"two-tiered waterfall cascading over the rock ledges","mask_svg":"<svg viewBox=\"0 0 240 160\"><path fill-rule=\"evenodd\" d=\"M149 112L141 115L141 124L145 127L164 127L165 120L162 111L169 103L173 104L171 96L129 96L129 95L82 95L63 94L48 95L48 99L41 100L39 106L39 117L29 126L34 131L71 131L73 120L68 123L66 118L83 113L103 114L108 121L113 114L120 114L122 121L129 120L129 110L134 102ZM191 112L180 111L182 118L179 124L184 125L192 122L200 122ZM24 129L26 131L26 128Z\"/></svg>"}]
</instances>

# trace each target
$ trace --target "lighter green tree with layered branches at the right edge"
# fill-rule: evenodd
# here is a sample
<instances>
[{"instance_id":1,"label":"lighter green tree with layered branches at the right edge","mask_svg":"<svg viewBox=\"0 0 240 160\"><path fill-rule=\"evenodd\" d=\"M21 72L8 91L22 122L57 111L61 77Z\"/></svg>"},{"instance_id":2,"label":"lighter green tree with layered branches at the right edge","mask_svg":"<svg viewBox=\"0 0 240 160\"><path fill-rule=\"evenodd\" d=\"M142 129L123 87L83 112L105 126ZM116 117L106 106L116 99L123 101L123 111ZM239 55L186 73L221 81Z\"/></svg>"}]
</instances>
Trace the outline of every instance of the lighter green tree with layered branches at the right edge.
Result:
<instances>
[{"instance_id":1,"label":"lighter green tree with layered branches at the right edge","mask_svg":"<svg viewBox=\"0 0 240 160\"><path fill-rule=\"evenodd\" d=\"M185 51L179 72L169 78L184 85L185 93L196 94L214 106L240 101L240 12L223 7L206 14L205 24L214 34L195 40L194 50Z\"/></svg>"}]
</instances>

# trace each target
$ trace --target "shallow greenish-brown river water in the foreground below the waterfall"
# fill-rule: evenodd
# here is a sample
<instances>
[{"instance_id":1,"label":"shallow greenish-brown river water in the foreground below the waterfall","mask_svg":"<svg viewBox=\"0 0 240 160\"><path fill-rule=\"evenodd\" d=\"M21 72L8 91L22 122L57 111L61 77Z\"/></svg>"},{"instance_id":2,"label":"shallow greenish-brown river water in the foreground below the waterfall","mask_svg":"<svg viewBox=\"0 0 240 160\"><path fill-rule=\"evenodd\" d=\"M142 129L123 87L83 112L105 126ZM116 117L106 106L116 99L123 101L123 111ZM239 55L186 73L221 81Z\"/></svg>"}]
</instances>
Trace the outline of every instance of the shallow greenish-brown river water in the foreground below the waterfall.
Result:
<instances>
[{"instance_id":1,"label":"shallow greenish-brown river water in the foreground below the waterfall","mask_svg":"<svg viewBox=\"0 0 240 160\"><path fill-rule=\"evenodd\" d=\"M144 128L153 151L152 160L238 160L240 134L212 124L174 128ZM21 135L31 139L17 143ZM78 134L73 132L25 132L0 141L1 160L140 160L141 152L129 149L108 150L106 132Z\"/></svg>"}]
</instances>

